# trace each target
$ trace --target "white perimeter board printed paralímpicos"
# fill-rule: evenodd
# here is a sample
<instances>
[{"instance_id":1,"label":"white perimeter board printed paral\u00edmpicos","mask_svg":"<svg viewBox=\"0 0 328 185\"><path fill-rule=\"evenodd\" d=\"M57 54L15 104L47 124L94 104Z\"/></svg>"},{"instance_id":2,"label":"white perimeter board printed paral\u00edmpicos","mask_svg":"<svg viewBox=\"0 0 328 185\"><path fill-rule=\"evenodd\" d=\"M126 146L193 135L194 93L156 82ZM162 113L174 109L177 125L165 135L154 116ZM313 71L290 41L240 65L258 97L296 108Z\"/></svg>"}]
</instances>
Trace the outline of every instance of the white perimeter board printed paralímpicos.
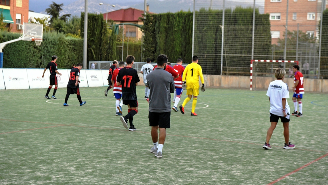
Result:
<instances>
[{"instance_id":1,"label":"white perimeter board printed paral\u00edmpicos","mask_svg":"<svg viewBox=\"0 0 328 185\"><path fill-rule=\"evenodd\" d=\"M44 77L42 78L43 70L44 69L26 69L31 89L49 87L49 70L44 73Z\"/></svg>"}]
</instances>

